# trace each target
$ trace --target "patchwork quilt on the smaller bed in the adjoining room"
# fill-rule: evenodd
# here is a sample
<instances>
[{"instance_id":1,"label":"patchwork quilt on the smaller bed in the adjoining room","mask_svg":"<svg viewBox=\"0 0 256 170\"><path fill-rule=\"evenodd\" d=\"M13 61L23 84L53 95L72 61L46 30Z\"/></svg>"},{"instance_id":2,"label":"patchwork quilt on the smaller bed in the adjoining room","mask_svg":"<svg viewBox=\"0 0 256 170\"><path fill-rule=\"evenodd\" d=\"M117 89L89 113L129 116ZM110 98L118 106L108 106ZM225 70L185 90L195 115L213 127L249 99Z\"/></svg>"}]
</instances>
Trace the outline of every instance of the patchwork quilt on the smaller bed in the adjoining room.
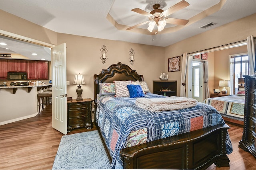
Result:
<instances>
[{"instance_id":1,"label":"patchwork quilt on the smaller bed in the adjoining room","mask_svg":"<svg viewBox=\"0 0 256 170\"><path fill-rule=\"evenodd\" d=\"M244 121L244 96L208 98L204 100L204 103L217 109L224 117Z\"/></svg>"}]
</instances>

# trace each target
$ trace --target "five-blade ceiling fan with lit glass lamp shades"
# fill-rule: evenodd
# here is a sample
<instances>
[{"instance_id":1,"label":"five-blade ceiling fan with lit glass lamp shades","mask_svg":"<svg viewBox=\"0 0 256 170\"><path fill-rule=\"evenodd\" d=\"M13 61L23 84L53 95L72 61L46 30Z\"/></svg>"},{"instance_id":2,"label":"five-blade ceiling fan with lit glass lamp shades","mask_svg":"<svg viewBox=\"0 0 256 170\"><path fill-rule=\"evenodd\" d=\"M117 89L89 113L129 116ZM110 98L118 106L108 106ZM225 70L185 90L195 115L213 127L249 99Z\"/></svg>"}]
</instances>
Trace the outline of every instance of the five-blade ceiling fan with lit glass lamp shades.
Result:
<instances>
[{"instance_id":1,"label":"five-blade ceiling fan with lit glass lamp shades","mask_svg":"<svg viewBox=\"0 0 256 170\"><path fill-rule=\"evenodd\" d=\"M185 0L182 0L182 1L178 2L177 4L175 4L174 6L168 8L165 11L158 9L160 7L160 4L154 4L153 5L154 10L152 10L150 13L148 13L144 10L141 10L140 8L134 8L134 9L132 9L132 11L137 12L138 14L147 16L149 21L145 21L145 22L139 23L137 25L134 25L132 27L129 27L129 28L127 28L127 30L133 29L135 27L139 27L146 23L148 23L148 30L150 32L153 31L155 25L157 25L158 31L162 31L164 29L164 26L166 25L166 23L172 23L172 24L176 24L176 25L186 25L189 20L167 18L167 16L169 16L170 14L173 14L174 12L181 10L187 6L189 6L188 2L186 2Z\"/></svg>"}]
</instances>

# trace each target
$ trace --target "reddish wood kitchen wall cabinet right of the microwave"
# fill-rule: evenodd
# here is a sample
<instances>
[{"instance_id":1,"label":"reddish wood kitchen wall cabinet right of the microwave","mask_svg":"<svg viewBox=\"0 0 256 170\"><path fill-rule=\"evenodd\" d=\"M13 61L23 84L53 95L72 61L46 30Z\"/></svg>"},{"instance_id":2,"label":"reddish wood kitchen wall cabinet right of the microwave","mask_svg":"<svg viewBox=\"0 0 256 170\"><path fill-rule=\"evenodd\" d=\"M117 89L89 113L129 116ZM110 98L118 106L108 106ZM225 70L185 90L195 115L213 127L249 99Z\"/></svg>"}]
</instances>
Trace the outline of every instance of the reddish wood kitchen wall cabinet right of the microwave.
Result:
<instances>
[{"instance_id":1,"label":"reddish wood kitchen wall cabinet right of the microwave","mask_svg":"<svg viewBox=\"0 0 256 170\"><path fill-rule=\"evenodd\" d=\"M48 80L48 61L28 61L28 80Z\"/></svg>"}]
</instances>

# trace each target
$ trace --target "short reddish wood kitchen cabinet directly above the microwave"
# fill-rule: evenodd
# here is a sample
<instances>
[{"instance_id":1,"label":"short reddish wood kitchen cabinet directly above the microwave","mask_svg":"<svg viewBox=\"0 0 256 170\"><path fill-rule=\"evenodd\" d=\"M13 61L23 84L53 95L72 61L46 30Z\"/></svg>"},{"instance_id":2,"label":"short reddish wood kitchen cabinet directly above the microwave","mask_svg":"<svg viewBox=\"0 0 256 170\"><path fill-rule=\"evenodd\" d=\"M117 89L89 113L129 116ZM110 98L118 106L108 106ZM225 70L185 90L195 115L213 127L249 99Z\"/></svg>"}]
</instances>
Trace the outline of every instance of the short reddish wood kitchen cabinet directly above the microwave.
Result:
<instances>
[{"instance_id":1,"label":"short reddish wood kitchen cabinet directly above the microwave","mask_svg":"<svg viewBox=\"0 0 256 170\"><path fill-rule=\"evenodd\" d=\"M27 61L8 59L8 72L27 72Z\"/></svg>"}]
</instances>

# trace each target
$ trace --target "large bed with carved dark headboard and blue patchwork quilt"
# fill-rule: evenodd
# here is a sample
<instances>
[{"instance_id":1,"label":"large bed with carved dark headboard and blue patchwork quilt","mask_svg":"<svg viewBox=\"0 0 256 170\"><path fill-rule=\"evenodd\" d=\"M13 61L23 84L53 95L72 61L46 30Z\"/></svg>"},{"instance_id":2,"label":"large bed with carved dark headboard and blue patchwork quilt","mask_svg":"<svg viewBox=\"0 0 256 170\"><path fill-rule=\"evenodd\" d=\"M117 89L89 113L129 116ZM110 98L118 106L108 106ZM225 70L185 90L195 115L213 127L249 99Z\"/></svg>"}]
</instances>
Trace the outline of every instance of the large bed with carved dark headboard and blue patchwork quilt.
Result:
<instances>
[{"instance_id":1,"label":"large bed with carved dark headboard and blue patchwork quilt","mask_svg":"<svg viewBox=\"0 0 256 170\"><path fill-rule=\"evenodd\" d=\"M229 127L216 109L198 102L195 107L156 113L136 106L137 98L100 94L103 84L128 80L144 82L144 77L120 62L94 74L94 120L112 168L206 169L213 163L229 166ZM143 98L164 97L147 92ZM193 123L199 121L197 114L201 114L203 123ZM163 133L165 125L172 127L170 133Z\"/></svg>"}]
</instances>

